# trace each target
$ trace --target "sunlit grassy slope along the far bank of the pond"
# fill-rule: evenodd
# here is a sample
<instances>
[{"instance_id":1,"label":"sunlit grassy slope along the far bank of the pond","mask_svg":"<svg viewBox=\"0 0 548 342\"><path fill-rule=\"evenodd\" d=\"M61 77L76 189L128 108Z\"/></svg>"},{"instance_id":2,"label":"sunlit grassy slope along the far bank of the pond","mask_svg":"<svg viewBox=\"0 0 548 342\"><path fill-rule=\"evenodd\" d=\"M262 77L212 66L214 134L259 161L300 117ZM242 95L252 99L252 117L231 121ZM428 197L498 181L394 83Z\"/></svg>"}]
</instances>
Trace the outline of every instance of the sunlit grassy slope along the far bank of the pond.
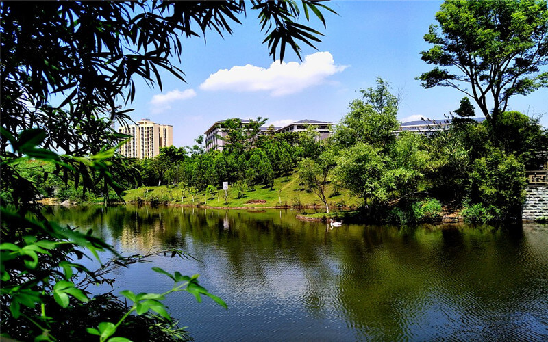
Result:
<instances>
[{"instance_id":1,"label":"sunlit grassy slope along the far bank of the pond","mask_svg":"<svg viewBox=\"0 0 548 342\"><path fill-rule=\"evenodd\" d=\"M145 192L146 190L148 190L148 192ZM358 198L350 196L347 190L341 189L340 194L334 194L334 187L332 184L327 185L326 193L327 196L329 196L329 207L356 207L358 205ZM217 193L213 196L208 196L207 201L204 192L199 193L197 198L195 196L194 201L192 201L190 194L186 192L184 200L182 201L180 189L169 188L162 185L158 187L147 187L147 189L139 188L128 190L125 192L123 198L126 202L137 202L138 200L150 202L151 200L158 200L160 202L167 201L179 205L201 205L208 207L312 207L314 205L319 209L325 207L316 194L303 190L301 185L299 185L297 174L275 179L272 189L270 187L258 185L253 191L248 190L242 198L237 198L237 195L236 189L229 184L227 204L225 204L224 191L222 189L218 189Z\"/></svg>"}]
</instances>

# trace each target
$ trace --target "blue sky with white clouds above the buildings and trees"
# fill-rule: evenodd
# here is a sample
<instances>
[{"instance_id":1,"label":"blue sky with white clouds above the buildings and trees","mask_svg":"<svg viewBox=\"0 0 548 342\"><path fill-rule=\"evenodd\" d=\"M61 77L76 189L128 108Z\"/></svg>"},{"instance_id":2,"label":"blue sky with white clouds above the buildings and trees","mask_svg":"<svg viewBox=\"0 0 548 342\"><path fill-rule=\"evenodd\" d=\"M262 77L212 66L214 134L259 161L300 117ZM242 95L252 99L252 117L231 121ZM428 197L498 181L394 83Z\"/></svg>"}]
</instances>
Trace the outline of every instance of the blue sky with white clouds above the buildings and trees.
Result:
<instances>
[{"instance_id":1,"label":"blue sky with white clouds above the buildings and trees","mask_svg":"<svg viewBox=\"0 0 548 342\"><path fill-rule=\"evenodd\" d=\"M162 73L163 90L138 81L133 120L150 118L173 125L173 144L194 144L216 120L268 118L275 125L290 120L339 122L358 92L375 86L377 76L401 94L399 120L443 118L464 96L453 88L421 87L414 77L429 70L420 52L428 49L423 35L441 1L335 1L317 50L302 46L303 61L286 50L276 62L262 44L256 13L248 10L234 34L184 40L181 67L186 83ZM308 56L308 57L307 57ZM510 110L530 116L548 112L547 90L510 99ZM479 111L477 111L479 115ZM548 115L541 119L548 127Z\"/></svg>"}]
</instances>

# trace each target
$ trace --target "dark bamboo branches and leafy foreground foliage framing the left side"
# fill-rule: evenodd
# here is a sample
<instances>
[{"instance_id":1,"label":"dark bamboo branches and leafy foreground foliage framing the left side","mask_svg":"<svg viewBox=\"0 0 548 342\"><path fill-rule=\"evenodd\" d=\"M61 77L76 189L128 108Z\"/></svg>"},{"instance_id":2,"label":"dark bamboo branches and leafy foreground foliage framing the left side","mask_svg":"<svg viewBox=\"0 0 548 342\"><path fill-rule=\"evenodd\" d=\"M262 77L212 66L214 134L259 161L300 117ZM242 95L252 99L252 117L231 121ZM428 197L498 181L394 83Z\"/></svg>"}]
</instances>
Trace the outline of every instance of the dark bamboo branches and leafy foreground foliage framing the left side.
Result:
<instances>
[{"instance_id":1,"label":"dark bamboo branches and leafy foreground foliage framing the left side","mask_svg":"<svg viewBox=\"0 0 548 342\"><path fill-rule=\"evenodd\" d=\"M318 31L297 23L301 9L306 20L311 11L324 26L322 10L331 11L312 0L303 1L301 8L294 1L253 0L251 9L258 12L266 31L269 53L281 59L286 46L300 57L300 42L312 46L319 42ZM180 62L182 37L209 30L232 34L230 25L240 23L237 16L245 12L244 1L0 2L0 172L2 190L11 194L11 206L2 202L1 207L3 336L76 341L88 339L90 332L106 341L131 334L125 323L133 321L148 325L151 329L145 330L151 335L132 338L173 338L163 329L171 326L163 295L139 299L142 295L123 291L133 303L129 307L112 295L103 295L102 304L95 305L97 298L90 300L82 290L89 282L76 285L86 276L90 282L108 280L95 278L73 262L82 257L82 251L96 256L97 250L115 251L90 233L46 220L33 202L36 185L22 176L18 165L24 159L45 161L55 166L53 173L60 179L73 182L75 188L82 185L84 192L104 194L112 188L121 193L112 169L125 168L116 147L127 137L116 133L112 124L125 124L129 109L122 110L119 104L133 101L135 79L162 89L161 71L166 70L184 80L183 71L172 62ZM200 153L201 147L195 152ZM118 258L116 262L132 261ZM199 286L195 277L155 271L174 280L173 289L166 293L208 295L225 305ZM112 316L114 311L104 310L111 307L120 310ZM73 319L82 308L98 329L87 327L86 332L86 326ZM142 315L149 310L160 313L164 324ZM103 321L111 319L114 323Z\"/></svg>"}]
</instances>

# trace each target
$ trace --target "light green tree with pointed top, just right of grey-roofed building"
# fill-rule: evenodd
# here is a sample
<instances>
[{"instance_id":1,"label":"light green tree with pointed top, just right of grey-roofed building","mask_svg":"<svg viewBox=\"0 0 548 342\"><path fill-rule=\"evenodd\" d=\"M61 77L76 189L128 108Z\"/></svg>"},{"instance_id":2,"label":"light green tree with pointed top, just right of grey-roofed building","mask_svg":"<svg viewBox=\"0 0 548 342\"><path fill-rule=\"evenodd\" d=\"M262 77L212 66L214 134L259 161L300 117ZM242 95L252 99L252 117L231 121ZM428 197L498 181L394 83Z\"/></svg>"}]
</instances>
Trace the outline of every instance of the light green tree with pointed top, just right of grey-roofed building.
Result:
<instances>
[{"instance_id":1,"label":"light green tree with pointed top, just right of grey-roofed building","mask_svg":"<svg viewBox=\"0 0 548 342\"><path fill-rule=\"evenodd\" d=\"M384 148L394 142L398 99L390 93L388 82L380 77L376 82L375 88L360 90L362 98L352 101L349 113L336 125L332 140L338 148L360 142Z\"/></svg>"}]
</instances>

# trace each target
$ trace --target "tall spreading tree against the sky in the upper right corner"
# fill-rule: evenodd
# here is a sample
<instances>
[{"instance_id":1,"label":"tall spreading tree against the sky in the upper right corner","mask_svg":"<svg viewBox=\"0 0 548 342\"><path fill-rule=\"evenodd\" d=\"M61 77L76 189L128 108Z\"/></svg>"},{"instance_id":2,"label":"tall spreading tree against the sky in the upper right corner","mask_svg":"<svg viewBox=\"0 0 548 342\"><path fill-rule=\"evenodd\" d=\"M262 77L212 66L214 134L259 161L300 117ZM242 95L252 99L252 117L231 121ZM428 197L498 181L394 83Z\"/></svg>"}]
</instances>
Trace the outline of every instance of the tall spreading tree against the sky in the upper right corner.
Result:
<instances>
[{"instance_id":1,"label":"tall spreading tree against the sky in the upper right corner","mask_svg":"<svg viewBox=\"0 0 548 342\"><path fill-rule=\"evenodd\" d=\"M510 97L548 86L546 0L446 0L436 21L421 55L437 66L417 77L425 88L456 88L492 120Z\"/></svg>"}]
</instances>

